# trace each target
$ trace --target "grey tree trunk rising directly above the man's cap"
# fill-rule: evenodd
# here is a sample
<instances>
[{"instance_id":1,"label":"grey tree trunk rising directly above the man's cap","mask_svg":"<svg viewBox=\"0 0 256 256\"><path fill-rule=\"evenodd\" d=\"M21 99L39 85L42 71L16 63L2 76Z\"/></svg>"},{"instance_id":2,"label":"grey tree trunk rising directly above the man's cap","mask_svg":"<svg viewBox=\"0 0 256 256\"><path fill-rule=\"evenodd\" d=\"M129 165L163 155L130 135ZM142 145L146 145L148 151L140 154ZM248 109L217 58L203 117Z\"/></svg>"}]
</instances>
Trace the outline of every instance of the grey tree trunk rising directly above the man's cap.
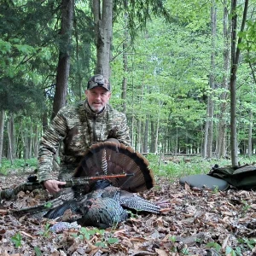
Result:
<instances>
[{"instance_id":1,"label":"grey tree trunk rising directly above the man's cap","mask_svg":"<svg viewBox=\"0 0 256 256\"><path fill-rule=\"evenodd\" d=\"M110 77L112 44L113 0L93 0L92 7L96 32L96 73Z\"/></svg>"}]
</instances>

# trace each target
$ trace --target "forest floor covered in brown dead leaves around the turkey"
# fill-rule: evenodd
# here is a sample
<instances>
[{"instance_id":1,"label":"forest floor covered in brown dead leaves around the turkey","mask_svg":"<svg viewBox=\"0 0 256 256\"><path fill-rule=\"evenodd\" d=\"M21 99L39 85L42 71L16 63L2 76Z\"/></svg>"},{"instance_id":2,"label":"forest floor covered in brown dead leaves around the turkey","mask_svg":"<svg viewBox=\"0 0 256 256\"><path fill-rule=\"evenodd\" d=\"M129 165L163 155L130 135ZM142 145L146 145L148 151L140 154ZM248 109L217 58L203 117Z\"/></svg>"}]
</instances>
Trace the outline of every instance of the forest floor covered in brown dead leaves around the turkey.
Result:
<instances>
[{"instance_id":1,"label":"forest floor covered in brown dead leaves around the turkey","mask_svg":"<svg viewBox=\"0 0 256 256\"><path fill-rule=\"evenodd\" d=\"M0 189L26 182L28 172L0 177ZM159 215L136 214L113 229L50 231L55 221L15 217L12 209L49 200L47 191L20 192L0 204L0 255L256 255L256 192L190 189L156 177L144 198L163 204Z\"/></svg>"}]
</instances>

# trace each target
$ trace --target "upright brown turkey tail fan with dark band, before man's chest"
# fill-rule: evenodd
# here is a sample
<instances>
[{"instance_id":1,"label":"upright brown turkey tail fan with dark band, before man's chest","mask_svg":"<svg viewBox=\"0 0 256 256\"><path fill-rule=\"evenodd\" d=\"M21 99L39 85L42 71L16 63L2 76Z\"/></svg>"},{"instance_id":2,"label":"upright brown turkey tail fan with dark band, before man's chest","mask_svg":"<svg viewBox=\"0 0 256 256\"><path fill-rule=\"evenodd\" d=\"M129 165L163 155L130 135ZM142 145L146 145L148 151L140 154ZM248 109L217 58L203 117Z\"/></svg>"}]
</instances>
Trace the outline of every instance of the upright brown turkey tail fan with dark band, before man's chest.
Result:
<instances>
[{"instance_id":1,"label":"upright brown turkey tail fan with dark band, before man's chest","mask_svg":"<svg viewBox=\"0 0 256 256\"><path fill-rule=\"evenodd\" d=\"M113 177L110 181L113 186L135 193L154 187L154 173L148 166L143 154L122 143L96 143L86 151L73 177L132 173L133 176Z\"/></svg>"}]
</instances>

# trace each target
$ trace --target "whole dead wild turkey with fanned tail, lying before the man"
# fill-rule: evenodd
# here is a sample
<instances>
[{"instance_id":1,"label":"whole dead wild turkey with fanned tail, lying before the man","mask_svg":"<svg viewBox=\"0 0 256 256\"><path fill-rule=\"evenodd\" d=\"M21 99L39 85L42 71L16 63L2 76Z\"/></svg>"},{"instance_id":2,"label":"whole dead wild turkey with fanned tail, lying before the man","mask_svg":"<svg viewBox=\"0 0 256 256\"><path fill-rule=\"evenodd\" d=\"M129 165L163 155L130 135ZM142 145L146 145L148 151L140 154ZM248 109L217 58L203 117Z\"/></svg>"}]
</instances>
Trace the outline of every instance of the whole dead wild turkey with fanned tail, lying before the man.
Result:
<instances>
[{"instance_id":1,"label":"whole dead wild turkey with fanned tail, lying before the man","mask_svg":"<svg viewBox=\"0 0 256 256\"><path fill-rule=\"evenodd\" d=\"M133 194L154 186L154 174L148 160L124 144L96 143L84 154L73 177L133 174L92 181L88 185L73 187L74 196L67 201L58 200L57 206L46 212L45 218L59 218L67 210L81 225L106 228L128 218L126 209L159 213L160 207ZM31 212L31 211L30 211Z\"/></svg>"}]
</instances>

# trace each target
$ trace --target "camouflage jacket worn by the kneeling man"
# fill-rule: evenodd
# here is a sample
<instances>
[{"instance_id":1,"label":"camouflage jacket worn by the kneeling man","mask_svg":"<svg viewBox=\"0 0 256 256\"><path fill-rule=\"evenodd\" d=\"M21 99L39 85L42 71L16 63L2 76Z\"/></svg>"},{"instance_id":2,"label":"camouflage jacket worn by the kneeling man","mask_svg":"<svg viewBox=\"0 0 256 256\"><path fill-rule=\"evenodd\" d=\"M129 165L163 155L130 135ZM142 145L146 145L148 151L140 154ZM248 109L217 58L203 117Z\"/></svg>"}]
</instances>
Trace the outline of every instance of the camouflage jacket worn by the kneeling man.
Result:
<instances>
[{"instance_id":1,"label":"camouflage jacket worn by the kneeling man","mask_svg":"<svg viewBox=\"0 0 256 256\"><path fill-rule=\"evenodd\" d=\"M54 178L51 172L58 149L61 158L59 178L63 179L72 175L85 150L92 143L105 141L113 131L116 131L115 138L120 143L130 146L131 138L125 114L110 105L99 114L90 110L87 101L61 108L39 143L39 181Z\"/></svg>"}]
</instances>

